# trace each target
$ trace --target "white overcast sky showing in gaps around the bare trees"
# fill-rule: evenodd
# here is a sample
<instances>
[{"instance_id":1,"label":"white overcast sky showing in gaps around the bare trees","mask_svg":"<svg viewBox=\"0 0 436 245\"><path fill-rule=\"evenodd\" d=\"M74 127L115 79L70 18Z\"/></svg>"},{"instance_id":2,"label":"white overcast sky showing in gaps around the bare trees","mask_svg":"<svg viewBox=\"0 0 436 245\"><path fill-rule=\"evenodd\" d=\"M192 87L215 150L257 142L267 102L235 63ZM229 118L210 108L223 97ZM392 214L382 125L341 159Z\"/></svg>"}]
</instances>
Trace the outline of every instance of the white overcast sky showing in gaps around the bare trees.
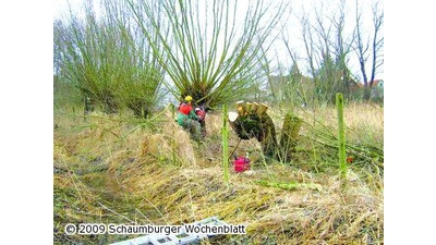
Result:
<instances>
[{"instance_id":1,"label":"white overcast sky showing in gaps around the bare trees","mask_svg":"<svg viewBox=\"0 0 436 245\"><path fill-rule=\"evenodd\" d=\"M55 0L55 5L53 5L53 16L55 19L60 19L62 17L62 13L68 12L69 10L69 4L70 2L72 9L74 12L81 12L82 10L82 4L83 0ZM95 10L98 11L98 0L94 0L95 2ZM240 5L244 1L238 2ZM277 1L272 1L277 2ZM315 9L323 9L322 15L327 15L326 13L334 13L335 11L338 10L338 4L339 0L293 0L291 1L291 11L288 13L287 17L288 20L280 23L280 25L286 25L287 27L284 28L284 32L288 36L288 42L291 46L292 51L296 52L300 60L299 62L299 68L303 73L308 73L308 68L305 61L305 49L304 49L304 42L302 39L302 30L301 30L301 17L304 16L315 16ZM363 30L365 34L368 34L368 32L373 33L373 19L372 19L372 5L374 2L379 2L380 8L383 9L383 1L382 0L360 0L360 5L362 8L362 22L363 22ZM351 38L352 32L355 26L355 1L346 1L346 39ZM331 14L332 15L332 14ZM331 16L330 15L330 16ZM383 35L383 33L382 33ZM281 35L280 35L281 36ZM286 51L286 46L282 41L276 40L274 45L274 49L268 52L269 59L271 60L270 65L277 68L278 63L283 68L282 72L289 71L289 69L292 65L292 61L288 56L288 52ZM370 59L371 60L371 59ZM349 62L348 62L349 69L351 72L356 75L358 77L361 77L361 72L360 72L360 65L358 62L358 57L355 56L354 52L349 54ZM384 71L382 70L383 68L378 69L378 73L376 75L376 78L384 78ZM367 68L366 71L371 71L371 63L370 61L367 62ZM277 70L275 73L278 73ZM371 76L371 74L367 74Z\"/></svg>"}]
</instances>

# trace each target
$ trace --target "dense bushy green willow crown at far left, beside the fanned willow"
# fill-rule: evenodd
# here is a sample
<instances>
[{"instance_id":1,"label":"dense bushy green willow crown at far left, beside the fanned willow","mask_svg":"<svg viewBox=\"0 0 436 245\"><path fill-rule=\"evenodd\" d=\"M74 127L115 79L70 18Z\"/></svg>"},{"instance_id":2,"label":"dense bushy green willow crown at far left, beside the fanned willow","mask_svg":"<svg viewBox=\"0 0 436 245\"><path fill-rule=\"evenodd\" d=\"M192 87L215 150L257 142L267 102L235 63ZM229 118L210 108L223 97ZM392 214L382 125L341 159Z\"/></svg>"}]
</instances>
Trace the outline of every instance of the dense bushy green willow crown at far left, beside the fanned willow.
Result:
<instances>
[{"instance_id":1,"label":"dense bushy green willow crown at far left, beside the fanned willow","mask_svg":"<svg viewBox=\"0 0 436 245\"><path fill-rule=\"evenodd\" d=\"M124 3L124 4L123 4ZM129 15L125 2L102 0L99 11L85 2L81 13L55 22L57 73L106 112L126 107L147 117L160 97L165 71Z\"/></svg>"}]
</instances>

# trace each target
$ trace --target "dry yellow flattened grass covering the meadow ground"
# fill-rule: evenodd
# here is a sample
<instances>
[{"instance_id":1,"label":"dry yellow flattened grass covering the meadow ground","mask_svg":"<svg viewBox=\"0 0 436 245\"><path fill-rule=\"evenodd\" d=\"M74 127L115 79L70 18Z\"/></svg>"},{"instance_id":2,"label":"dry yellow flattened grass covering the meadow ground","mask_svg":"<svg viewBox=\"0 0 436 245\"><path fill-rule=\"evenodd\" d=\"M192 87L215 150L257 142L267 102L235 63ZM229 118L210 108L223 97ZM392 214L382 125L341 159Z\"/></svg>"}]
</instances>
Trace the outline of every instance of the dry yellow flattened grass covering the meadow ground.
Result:
<instances>
[{"instance_id":1,"label":"dry yellow flattened grass covering the meadow ground","mask_svg":"<svg viewBox=\"0 0 436 245\"><path fill-rule=\"evenodd\" d=\"M324 110L323 117L317 113L335 126L335 110ZM350 106L346 117L350 128L359 133L365 125L374 134L372 140L382 138L383 143L383 108ZM276 120L276 126L281 126L280 117ZM265 163L258 144L242 140L237 152L251 154L252 170L230 171L227 186L220 122L219 113L208 114L208 137L196 144L170 112L141 128L119 115L93 114L86 121L69 114L57 117L55 241L110 243L128 238L66 236L65 223L181 224L217 216L228 223L247 224L247 235L218 236L210 244L383 243L383 175L350 168L348 180L341 181L334 168L315 172L295 164ZM230 133L230 152L238 140ZM259 183L296 183L298 187Z\"/></svg>"}]
</instances>

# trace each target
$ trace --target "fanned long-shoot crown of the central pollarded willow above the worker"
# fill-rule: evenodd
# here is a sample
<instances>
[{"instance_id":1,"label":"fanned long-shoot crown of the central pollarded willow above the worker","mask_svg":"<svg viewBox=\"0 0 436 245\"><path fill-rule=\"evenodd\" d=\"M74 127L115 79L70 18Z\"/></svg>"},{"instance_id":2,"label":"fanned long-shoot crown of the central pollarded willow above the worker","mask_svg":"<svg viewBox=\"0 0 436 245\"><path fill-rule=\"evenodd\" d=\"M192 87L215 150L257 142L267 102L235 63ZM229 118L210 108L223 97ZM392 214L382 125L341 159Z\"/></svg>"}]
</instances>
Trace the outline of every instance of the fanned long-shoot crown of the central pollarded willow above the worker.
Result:
<instances>
[{"instance_id":1,"label":"fanned long-shoot crown of the central pollarded willow above the worker","mask_svg":"<svg viewBox=\"0 0 436 245\"><path fill-rule=\"evenodd\" d=\"M175 98L191 95L203 108L239 100L254 88L263 76L261 49L269 48L266 40L284 10L262 0L128 2L170 77L168 89Z\"/></svg>"}]
</instances>

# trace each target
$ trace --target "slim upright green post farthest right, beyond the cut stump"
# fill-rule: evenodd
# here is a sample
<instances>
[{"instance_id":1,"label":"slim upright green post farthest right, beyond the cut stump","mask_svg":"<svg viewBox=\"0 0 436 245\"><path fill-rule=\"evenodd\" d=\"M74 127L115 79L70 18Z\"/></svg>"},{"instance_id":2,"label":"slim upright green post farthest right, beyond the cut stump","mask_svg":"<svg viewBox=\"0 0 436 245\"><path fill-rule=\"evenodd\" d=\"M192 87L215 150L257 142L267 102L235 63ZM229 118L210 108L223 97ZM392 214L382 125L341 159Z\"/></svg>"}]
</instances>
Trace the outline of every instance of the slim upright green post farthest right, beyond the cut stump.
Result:
<instances>
[{"instance_id":1,"label":"slim upright green post farthest right, beyond the cut stump","mask_svg":"<svg viewBox=\"0 0 436 245\"><path fill-rule=\"evenodd\" d=\"M341 172L341 176L344 177L347 173L347 163L346 163L346 134L344 134L344 123L343 123L342 93L336 94L336 108L338 109L339 169Z\"/></svg>"}]
</instances>

